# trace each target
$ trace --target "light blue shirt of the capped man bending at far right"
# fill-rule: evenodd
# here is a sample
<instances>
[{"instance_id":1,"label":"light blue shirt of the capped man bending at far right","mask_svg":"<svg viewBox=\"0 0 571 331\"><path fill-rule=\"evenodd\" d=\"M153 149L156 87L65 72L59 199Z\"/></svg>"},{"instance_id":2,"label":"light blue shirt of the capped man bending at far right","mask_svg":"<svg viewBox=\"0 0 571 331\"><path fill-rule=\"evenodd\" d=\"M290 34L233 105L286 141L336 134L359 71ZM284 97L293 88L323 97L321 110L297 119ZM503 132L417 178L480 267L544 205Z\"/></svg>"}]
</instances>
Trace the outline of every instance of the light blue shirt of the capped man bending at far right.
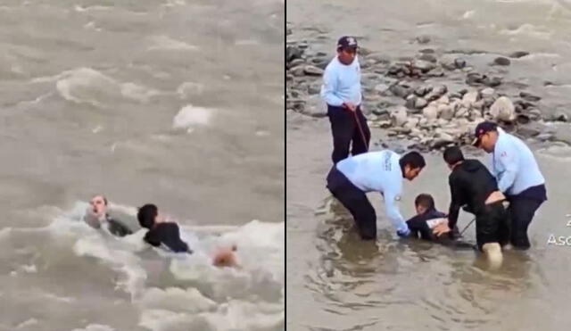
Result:
<instances>
[{"instance_id":1,"label":"light blue shirt of the capped man bending at far right","mask_svg":"<svg viewBox=\"0 0 571 331\"><path fill-rule=\"evenodd\" d=\"M529 147L501 128L498 128L498 134L492 153L492 172L501 192L515 195L529 187L545 184Z\"/></svg>"}]
</instances>

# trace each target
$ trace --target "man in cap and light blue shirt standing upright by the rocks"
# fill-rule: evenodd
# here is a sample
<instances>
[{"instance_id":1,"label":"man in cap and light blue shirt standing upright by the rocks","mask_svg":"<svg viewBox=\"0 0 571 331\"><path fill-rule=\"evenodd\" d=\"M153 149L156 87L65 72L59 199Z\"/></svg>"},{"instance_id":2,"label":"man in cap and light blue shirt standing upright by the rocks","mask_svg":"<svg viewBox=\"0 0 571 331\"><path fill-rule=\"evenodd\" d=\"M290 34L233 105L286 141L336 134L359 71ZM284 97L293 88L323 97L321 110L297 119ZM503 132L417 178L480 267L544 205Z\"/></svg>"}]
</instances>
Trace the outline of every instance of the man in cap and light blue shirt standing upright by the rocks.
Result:
<instances>
[{"instance_id":1,"label":"man in cap and light blue shirt standing upright by the rocks","mask_svg":"<svg viewBox=\"0 0 571 331\"><path fill-rule=\"evenodd\" d=\"M337 56L329 62L323 74L321 97L327 103L327 116L333 134L334 163L368 150L370 130L360 109L360 65L357 59L357 40L341 37L337 42Z\"/></svg>"}]
</instances>

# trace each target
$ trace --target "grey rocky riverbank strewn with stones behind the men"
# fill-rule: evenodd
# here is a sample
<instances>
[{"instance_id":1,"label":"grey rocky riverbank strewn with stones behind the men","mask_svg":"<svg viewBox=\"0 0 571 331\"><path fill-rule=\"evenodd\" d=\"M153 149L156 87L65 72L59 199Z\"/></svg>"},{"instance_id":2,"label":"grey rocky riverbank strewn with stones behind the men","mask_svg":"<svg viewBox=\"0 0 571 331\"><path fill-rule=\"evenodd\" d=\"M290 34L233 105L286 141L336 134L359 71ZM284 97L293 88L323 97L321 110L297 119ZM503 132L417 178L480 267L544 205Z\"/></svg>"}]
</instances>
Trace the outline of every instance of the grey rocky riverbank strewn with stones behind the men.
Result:
<instances>
[{"instance_id":1,"label":"grey rocky riverbank strewn with stones behind the men","mask_svg":"<svg viewBox=\"0 0 571 331\"><path fill-rule=\"evenodd\" d=\"M287 29L288 35L292 32ZM542 112L540 96L525 91L525 84L504 81L501 75L526 52L495 56L489 70L479 71L470 65L466 52L420 48L427 38L415 40L418 54L409 57L360 48L361 108L369 126L385 128L388 137L425 151L468 144L482 120L497 121L521 137L557 140L551 122L567 122L567 114ZM319 118L326 116L319 98L321 76L335 54L313 51L311 43L287 42L286 109Z\"/></svg>"}]
</instances>

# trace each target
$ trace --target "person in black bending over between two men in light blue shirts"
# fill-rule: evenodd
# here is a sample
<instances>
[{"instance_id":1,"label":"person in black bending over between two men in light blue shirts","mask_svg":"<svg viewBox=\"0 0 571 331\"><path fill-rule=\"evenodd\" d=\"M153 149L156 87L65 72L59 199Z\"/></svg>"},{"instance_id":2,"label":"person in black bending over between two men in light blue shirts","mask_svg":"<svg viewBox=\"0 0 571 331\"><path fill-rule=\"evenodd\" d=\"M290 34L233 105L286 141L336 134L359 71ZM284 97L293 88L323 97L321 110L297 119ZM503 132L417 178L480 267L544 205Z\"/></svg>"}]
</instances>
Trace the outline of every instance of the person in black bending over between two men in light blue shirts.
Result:
<instances>
[{"instance_id":1,"label":"person in black bending over between two men in light blue shirts","mask_svg":"<svg viewBox=\"0 0 571 331\"><path fill-rule=\"evenodd\" d=\"M509 242L509 217L504 202L506 197L498 189L498 183L482 162L465 160L458 146L447 148L444 161L451 169L449 184L451 203L448 224L434 229L438 236L450 232L456 226L459 210L476 215L476 243L492 262L501 264L501 246Z\"/></svg>"}]
</instances>

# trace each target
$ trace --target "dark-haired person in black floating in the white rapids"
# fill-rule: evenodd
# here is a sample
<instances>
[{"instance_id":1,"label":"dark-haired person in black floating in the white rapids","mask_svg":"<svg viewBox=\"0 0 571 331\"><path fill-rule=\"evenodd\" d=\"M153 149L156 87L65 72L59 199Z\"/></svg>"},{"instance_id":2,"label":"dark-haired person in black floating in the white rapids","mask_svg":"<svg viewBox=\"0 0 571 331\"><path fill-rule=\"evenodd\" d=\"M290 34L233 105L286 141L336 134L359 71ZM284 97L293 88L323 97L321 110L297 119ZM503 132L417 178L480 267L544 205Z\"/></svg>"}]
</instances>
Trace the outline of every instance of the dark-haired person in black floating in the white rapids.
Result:
<instances>
[{"instance_id":1,"label":"dark-haired person in black floating in the white rapids","mask_svg":"<svg viewBox=\"0 0 571 331\"><path fill-rule=\"evenodd\" d=\"M180 229L175 222L165 221L159 214L159 209L152 203L147 203L137 211L137 219L142 228L149 231L145 234L145 242L154 247L166 247L172 252L193 251L180 238ZM236 245L230 249L222 249L214 255L212 264L218 267L236 266Z\"/></svg>"}]
</instances>

